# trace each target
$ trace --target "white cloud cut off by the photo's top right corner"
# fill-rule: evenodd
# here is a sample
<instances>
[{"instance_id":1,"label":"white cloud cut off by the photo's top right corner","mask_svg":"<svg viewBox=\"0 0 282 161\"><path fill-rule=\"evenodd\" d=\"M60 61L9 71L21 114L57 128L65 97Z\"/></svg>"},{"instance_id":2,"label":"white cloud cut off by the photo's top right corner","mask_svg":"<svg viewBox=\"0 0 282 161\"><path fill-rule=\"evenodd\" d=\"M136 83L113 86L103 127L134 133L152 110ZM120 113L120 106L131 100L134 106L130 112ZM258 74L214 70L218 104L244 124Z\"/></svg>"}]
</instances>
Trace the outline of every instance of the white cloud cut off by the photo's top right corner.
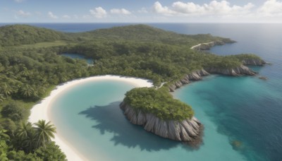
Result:
<instances>
[{"instance_id":1,"label":"white cloud cut off by the photo's top right corner","mask_svg":"<svg viewBox=\"0 0 282 161\"><path fill-rule=\"evenodd\" d=\"M268 0L257 10L260 16L281 16L282 15L282 1Z\"/></svg>"}]
</instances>

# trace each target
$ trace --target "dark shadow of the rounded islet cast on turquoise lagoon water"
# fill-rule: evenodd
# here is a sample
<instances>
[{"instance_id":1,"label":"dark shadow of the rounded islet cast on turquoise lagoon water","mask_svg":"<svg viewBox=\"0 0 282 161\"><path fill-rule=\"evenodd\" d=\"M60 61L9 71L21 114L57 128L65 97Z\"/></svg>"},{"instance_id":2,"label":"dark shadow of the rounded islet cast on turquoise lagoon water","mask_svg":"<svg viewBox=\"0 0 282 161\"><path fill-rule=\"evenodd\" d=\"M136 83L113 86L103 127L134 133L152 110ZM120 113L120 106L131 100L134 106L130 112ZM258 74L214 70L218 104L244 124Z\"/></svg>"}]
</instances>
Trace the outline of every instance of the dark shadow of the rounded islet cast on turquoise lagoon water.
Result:
<instances>
[{"instance_id":1,"label":"dark shadow of the rounded islet cast on turquoise lagoon water","mask_svg":"<svg viewBox=\"0 0 282 161\"><path fill-rule=\"evenodd\" d=\"M94 106L80 112L87 118L98 122L92 128L97 129L103 135L105 132L114 133L111 141L114 145L125 145L128 148L140 146L141 150L158 151L174 148L181 143L161 138L145 131L142 126L131 124L119 108L121 102L112 102L106 106Z\"/></svg>"}]
</instances>

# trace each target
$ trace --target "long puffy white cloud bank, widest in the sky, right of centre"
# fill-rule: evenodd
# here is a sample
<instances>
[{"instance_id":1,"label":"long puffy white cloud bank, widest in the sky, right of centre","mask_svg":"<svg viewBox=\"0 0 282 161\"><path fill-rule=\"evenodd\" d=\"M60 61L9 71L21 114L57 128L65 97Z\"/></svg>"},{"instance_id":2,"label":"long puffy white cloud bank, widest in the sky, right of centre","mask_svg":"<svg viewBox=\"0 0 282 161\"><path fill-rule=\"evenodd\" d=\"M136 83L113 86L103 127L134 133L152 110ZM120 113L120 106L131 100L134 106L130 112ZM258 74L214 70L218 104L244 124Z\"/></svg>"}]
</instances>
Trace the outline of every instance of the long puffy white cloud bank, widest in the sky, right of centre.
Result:
<instances>
[{"instance_id":1,"label":"long puffy white cloud bank, widest in the sky, right of centre","mask_svg":"<svg viewBox=\"0 0 282 161\"><path fill-rule=\"evenodd\" d=\"M194 16L194 15L242 15L250 13L254 5L251 3L245 6L231 5L228 1L211 1L209 4L185 3L183 1L174 2L171 7L162 6L159 1L154 3L154 11L164 15Z\"/></svg>"}]
</instances>

